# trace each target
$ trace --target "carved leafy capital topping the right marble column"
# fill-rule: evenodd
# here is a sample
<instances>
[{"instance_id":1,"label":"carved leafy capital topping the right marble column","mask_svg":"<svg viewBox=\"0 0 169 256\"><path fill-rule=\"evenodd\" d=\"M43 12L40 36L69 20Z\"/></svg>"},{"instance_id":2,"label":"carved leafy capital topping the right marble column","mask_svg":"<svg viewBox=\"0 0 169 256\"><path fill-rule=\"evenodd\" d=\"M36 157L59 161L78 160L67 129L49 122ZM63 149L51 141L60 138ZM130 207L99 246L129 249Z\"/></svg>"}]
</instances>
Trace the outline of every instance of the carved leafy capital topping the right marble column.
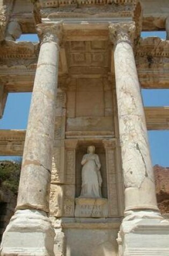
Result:
<instances>
[{"instance_id":1,"label":"carved leafy capital topping the right marble column","mask_svg":"<svg viewBox=\"0 0 169 256\"><path fill-rule=\"evenodd\" d=\"M135 38L135 22L111 23L109 25L109 36L114 45L121 42L133 44Z\"/></svg>"}]
</instances>

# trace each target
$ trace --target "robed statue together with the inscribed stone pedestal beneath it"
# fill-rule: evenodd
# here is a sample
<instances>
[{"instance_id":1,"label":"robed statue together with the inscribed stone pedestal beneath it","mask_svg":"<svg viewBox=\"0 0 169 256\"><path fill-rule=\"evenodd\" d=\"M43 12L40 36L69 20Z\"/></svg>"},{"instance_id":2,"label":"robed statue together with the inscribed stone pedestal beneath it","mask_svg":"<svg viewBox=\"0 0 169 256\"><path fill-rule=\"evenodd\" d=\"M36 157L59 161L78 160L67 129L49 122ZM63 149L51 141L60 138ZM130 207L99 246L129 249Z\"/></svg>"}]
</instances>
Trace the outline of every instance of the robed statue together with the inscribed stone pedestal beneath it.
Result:
<instances>
[{"instance_id":1,"label":"robed statue together with the inscribed stone pedestal beneath it","mask_svg":"<svg viewBox=\"0 0 169 256\"><path fill-rule=\"evenodd\" d=\"M80 196L75 199L75 217L101 218L108 216L107 198L102 198L100 160L89 146L82 157L82 186Z\"/></svg>"}]
</instances>

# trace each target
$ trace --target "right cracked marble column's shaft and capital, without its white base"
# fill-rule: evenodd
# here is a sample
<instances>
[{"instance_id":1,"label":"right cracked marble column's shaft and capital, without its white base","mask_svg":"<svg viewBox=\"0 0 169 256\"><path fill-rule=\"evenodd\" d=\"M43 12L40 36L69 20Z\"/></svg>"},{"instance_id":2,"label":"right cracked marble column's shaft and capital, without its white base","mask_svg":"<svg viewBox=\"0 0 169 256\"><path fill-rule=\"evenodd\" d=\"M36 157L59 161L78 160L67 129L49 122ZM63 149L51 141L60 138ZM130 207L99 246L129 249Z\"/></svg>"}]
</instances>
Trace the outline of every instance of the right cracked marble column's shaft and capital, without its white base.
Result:
<instances>
[{"instance_id":1,"label":"right cracked marble column's shaft and capital, without its white base","mask_svg":"<svg viewBox=\"0 0 169 256\"><path fill-rule=\"evenodd\" d=\"M158 210L133 41L135 23L111 24L125 210Z\"/></svg>"}]
</instances>

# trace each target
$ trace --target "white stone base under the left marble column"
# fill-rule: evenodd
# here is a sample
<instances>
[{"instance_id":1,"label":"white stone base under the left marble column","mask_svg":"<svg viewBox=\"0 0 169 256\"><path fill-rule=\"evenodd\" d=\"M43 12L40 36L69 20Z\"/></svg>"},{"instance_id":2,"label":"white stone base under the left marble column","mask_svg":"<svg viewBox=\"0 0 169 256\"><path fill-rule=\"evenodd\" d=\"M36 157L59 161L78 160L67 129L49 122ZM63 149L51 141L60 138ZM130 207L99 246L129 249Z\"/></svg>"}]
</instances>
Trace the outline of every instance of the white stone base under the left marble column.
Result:
<instances>
[{"instance_id":1,"label":"white stone base under the left marble column","mask_svg":"<svg viewBox=\"0 0 169 256\"><path fill-rule=\"evenodd\" d=\"M1 256L54 256L55 232L45 212L17 210L3 234Z\"/></svg>"}]
</instances>

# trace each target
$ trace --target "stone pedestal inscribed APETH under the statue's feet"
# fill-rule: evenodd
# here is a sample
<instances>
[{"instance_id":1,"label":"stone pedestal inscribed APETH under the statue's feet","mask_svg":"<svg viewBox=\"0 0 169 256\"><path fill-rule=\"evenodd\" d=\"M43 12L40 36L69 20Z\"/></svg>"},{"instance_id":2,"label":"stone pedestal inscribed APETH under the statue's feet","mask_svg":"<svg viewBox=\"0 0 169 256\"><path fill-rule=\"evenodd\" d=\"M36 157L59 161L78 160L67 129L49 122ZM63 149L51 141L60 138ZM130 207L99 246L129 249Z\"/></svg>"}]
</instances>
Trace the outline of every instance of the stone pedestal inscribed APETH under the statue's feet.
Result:
<instances>
[{"instance_id":1,"label":"stone pedestal inscribed APETH under the statue's feet","mask_svg":"<svg viewBox=\"0 0 169 256\"><path fill-rule=\"evenodd\" d=\"M106 198L76 198L75 217L102 218L108 216Z\"/></svg>"}]
</instances>

